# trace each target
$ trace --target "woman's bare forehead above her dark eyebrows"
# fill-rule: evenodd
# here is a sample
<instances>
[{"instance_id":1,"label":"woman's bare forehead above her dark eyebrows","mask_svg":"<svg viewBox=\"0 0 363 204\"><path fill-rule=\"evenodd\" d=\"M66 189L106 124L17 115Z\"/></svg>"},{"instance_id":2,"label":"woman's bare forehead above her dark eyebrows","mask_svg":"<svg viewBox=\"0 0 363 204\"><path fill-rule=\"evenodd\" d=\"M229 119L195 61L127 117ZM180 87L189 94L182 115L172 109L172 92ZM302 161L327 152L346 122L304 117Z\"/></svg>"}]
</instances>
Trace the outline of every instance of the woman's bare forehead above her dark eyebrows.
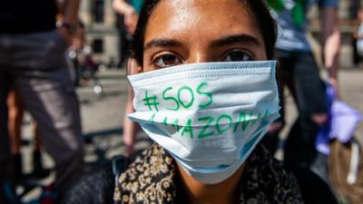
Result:
<instances>
[{"instance_id":1,"label":"woman's bare forehead above her dark eyebrows","mask_svg":"<svg viewBox=\"0 0 363 204\"><path fill-rule=\"evenodd\" d=\"M146 26L145 43L158 37L196 40L231 34L262 39L254 16L241 0L161 0Z\"/></svg>"}]
</instances>

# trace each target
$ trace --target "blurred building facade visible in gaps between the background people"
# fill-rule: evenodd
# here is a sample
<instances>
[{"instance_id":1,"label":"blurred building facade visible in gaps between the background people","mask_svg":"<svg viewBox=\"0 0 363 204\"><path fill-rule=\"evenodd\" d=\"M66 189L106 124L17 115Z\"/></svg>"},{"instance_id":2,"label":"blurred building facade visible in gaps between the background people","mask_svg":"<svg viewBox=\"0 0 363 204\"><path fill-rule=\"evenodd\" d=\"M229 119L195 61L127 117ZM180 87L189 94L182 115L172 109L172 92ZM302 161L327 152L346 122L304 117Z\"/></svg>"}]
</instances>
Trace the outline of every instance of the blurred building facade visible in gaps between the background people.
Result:
<instances>
[{"instance_id":1,"label":"blurred building facade visible in gaps between the background people","mask_svg":"<svg viewBox=\"0 0 363 204\"><path fill-rule=\"evenodd\" d=\"M347 54L352 55L352 34L357 29L356 16L363 0L340 0L339 16L341 32L343 36L342 66L351 66L352 60L348 60ZM118 16L114 13L112 0L84 0L81 5L80 18L87 29L87 39L93 47L95 59L99 62L109 63L119 59L119 34ZM309 31L318 40L319 36L319 12L318 8L309 13L311 26Z\"/></svg>"}]
</instances>

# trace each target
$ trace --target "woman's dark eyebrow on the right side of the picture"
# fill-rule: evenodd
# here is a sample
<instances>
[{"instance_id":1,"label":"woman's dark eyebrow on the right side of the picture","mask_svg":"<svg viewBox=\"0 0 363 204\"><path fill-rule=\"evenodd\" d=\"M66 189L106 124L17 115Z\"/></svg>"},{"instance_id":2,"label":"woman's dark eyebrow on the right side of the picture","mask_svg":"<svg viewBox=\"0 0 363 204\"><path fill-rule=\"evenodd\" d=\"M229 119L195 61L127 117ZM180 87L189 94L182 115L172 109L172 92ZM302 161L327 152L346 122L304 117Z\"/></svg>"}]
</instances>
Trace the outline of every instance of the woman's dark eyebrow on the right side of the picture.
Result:
<instances>
[{"instance_id":1,"label":"woman's dark eyebrow on the right side of the picture","mask_svg":"<svg viewBox=\"0 0 363 204\"><path fill-rule=\"evenodd\" d=\"M237 34L215 40L211 43L211 46L222 46L222 45L236 44L236 43L256 44L258 46L261 45L259 39L257 39L256 37L253 37L249 34Z\"/></svg>"}]
</instances>

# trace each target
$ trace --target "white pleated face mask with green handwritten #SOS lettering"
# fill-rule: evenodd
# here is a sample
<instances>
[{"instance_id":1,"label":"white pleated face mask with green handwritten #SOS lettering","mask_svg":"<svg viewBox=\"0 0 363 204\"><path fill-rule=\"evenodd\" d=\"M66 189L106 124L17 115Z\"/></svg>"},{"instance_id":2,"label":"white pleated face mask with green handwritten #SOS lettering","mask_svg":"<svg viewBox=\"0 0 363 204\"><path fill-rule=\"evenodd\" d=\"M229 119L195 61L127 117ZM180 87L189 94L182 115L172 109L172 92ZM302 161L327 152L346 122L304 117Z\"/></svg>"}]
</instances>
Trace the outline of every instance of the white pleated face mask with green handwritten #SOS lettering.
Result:
<instances>
[{"instance_id":1,"label":"white pleated face mask with green handwritten #SOS lettering","mask_svg":"<svg viewBox=\"0 0 363 204\"><path fill-rule=\"evenodd\" d=\"M227 180L279 117L275 61L188 63L128 77L129 115L203 183Z\"/></svg>"}]
</instances>

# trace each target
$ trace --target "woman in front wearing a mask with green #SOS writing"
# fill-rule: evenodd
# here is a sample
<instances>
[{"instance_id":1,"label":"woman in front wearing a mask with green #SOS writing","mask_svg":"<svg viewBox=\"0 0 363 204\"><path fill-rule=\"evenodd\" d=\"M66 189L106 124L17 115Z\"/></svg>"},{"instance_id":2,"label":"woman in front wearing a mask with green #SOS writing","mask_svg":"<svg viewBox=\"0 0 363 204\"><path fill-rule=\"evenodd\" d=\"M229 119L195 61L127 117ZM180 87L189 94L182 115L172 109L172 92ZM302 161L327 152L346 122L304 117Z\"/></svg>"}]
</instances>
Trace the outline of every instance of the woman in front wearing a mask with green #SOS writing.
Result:
<instances>
[{"instance_id":1,"label":"woman in front wearing a mask with green #SOS writing","mask_svg":"<svg viewBox=\"0 0 363 204\"><path fill-rule=\"evenodd\" d=\"M266 61L275 40L261 0L146 1L130 117L156 144L122 170L113 195L101 170L66 203L302 203L293 176L258 145L279 116Z\"/></svg>"}]
</instances>

